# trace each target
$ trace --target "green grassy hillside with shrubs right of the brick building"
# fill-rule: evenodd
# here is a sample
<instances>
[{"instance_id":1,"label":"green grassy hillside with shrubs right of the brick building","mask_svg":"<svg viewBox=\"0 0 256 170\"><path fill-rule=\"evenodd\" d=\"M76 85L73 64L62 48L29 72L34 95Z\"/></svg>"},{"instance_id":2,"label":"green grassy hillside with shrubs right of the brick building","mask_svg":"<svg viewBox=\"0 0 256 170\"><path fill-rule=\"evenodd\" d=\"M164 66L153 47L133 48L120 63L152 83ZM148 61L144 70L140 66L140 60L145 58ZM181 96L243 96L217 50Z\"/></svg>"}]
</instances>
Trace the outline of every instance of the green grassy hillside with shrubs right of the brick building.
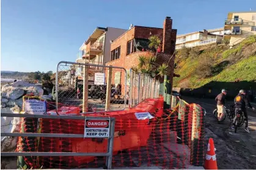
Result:
<instances>
[{"instance_id":1,"label":"green grassy hillside with shrubs right of the brick building","mask_svg":"<svg viewBox=\"0 0 256 170\"><path fill-rule=\"evenodd\" d=\"M174 87L216 87L221 82L243 82L243 87L256 87L256 36L237 44L232 49L225 44L177 51ZM241 83L240 83L241 85ZM229 88L234 87L230 85ZM218 88L218 87L216 87Z\"/></svg>"}]
</instances>

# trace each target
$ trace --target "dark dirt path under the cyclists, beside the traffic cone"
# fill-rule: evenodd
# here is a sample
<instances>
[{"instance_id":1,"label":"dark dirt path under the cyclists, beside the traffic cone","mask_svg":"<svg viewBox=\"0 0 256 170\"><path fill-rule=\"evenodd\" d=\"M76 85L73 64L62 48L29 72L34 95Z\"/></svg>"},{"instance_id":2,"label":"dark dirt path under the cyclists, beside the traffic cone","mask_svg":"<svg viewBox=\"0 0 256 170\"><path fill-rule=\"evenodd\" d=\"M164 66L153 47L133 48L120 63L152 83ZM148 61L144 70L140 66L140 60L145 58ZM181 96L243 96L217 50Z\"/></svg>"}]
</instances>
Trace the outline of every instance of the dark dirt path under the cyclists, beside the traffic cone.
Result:
<instances>
[{"instance_id":1,"label":"dark dirt path under the cyclists, beside the traffic cone","mask_svg":"<svg viewBox=\"0 0 256 170\"><path fill-rule=\"evenodd\" d=\"M216 157L219 169L255 169L256 168L256 112L251 110L249 114L250 133L244 131L244 127L234 133L230 129L230 120L218 124L213 117L216 108L213 99L195 99L183 97L185 101L197 103L207 111L205 116L205 146L209 138L213 138L217 149ZM232 102L228 102L232 104ZM207 147L205 147L207 148Z\"/></svg>"}]
</instances>

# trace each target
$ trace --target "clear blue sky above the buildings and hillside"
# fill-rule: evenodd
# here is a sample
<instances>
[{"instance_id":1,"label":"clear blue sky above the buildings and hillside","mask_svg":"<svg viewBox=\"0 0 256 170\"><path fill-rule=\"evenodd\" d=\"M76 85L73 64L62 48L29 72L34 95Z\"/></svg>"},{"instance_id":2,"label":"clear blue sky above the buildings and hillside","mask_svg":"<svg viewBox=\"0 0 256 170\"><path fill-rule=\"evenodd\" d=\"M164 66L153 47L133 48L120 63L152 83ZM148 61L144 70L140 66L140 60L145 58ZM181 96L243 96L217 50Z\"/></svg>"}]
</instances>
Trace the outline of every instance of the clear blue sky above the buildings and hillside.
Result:
<instances>
[{"instance_id":1,"label":"clear blue sky above the buildings and hillside","mask_svg":"<svg viewBox=\"0 0 256 170\"><path fill-rule=\"evenodd\" d=\"M224 27L228 12L256 11L256 0L1 0L1 71L56 71L75 62L96 27L163 27L178 34Z\"/></svg>"}]
</instances>

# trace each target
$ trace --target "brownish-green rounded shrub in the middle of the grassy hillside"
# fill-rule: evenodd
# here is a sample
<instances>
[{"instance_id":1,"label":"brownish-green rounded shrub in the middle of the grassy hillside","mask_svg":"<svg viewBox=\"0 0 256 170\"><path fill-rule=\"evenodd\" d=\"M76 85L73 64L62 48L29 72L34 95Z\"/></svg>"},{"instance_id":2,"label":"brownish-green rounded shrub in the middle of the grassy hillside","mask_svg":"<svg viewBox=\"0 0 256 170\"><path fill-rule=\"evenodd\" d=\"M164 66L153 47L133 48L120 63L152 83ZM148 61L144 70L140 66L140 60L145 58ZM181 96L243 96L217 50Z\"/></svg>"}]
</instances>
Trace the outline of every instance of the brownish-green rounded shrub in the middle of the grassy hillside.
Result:
<instances>
[{"instance_id":1,"label":"brownish-green rounded shrub in the middle of the grassy hillside","mask_svg":"<svg viewBox=\"0 0 256 170\"><path fill-rule=\"evenodd\" d=\"M213 75L214 72L214 60L209 55L202 55L199 58L199 65L196 69L196 75L200 78L206 78Z\"/></svg>"}]
</instances>

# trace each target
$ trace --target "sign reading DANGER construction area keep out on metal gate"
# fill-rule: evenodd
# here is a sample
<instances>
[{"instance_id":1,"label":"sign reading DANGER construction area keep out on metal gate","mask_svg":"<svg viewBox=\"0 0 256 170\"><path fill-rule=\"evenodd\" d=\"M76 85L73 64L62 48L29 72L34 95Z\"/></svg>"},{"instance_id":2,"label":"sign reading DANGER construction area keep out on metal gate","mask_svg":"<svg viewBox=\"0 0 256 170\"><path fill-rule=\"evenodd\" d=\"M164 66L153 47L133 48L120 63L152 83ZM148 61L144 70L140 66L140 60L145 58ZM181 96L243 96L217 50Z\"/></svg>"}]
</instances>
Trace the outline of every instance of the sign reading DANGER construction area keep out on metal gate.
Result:
<instances>
[{"instance_id":1,"label":"sign reading DANGER construction area keep out on metal gate","mask_svg":"<svg viewBox=\"0 0 256 170\"><path fill-rule=\"evenodd\" d=\"M86 118L84 138L108 138L109 120Z\"/></svg>"}]
</instances>

